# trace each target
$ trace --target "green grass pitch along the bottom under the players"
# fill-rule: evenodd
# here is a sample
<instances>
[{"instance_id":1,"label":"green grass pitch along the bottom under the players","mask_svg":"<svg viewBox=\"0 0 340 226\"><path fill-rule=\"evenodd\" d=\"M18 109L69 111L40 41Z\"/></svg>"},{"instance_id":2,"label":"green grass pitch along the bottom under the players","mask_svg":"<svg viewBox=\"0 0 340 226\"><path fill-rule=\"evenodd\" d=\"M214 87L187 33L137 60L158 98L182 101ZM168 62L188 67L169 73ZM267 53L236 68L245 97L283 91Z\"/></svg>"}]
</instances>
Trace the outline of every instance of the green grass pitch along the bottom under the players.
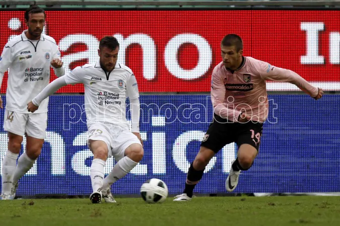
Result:
<instances>
[{"instance_id":1,"label":"green grass pitch along the bottom under the players","mask_svg":"<svg viewBox=\"0 0 340 226\"><path fill-rule=\"evenodd\" d=\"M142 198L0 201L0 225L340 225L340 197L195 197L148 204Z\"/></svg>"}]
</instances>

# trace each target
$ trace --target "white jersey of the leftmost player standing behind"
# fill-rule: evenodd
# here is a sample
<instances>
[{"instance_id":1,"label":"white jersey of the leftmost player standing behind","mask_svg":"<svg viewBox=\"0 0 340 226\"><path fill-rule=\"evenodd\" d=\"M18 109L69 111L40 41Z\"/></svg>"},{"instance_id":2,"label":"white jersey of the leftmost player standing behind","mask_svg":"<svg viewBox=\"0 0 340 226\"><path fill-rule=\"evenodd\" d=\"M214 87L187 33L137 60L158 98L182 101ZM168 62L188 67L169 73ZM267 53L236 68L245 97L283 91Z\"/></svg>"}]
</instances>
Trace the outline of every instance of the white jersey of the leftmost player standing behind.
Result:
<instances>
[{"instance_id":1,"label":"white jersey of the leftmost player standing behind","mask_svg":"<svg viewBox=\"0 0 340 226\"><path fill-rule=\"evenodd\" d=\"M55 40L41 34L40 40L29 40L25 31L11 39L0 57L0 73L10 68L6 91L6 109L22 113L27 104L50 80L51 60L60 59ZM47 112L48 98L44 99L34 113ZM32 113L30 113L32 114Z\"/></svg>"}]
</instances>

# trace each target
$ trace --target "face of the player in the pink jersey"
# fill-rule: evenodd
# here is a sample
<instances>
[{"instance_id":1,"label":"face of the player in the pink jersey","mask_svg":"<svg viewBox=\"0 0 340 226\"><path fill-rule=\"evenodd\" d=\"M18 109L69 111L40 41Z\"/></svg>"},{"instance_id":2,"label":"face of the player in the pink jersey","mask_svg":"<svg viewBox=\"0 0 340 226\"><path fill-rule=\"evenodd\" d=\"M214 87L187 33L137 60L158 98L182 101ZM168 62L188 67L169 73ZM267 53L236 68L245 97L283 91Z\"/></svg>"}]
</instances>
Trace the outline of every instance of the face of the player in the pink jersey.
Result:
<instances>
[{"instance_id":1,"label":"face of the player in the pink jersey","mask_svg":"<svg viewBox=\"0 0 340 226\"><path fill-rule=\"evenodd\" d=\"M226 68L237 69L242 62L243 50L236 51L236 46L221 45L221 55Z\"/></svg>"}]
</instances>

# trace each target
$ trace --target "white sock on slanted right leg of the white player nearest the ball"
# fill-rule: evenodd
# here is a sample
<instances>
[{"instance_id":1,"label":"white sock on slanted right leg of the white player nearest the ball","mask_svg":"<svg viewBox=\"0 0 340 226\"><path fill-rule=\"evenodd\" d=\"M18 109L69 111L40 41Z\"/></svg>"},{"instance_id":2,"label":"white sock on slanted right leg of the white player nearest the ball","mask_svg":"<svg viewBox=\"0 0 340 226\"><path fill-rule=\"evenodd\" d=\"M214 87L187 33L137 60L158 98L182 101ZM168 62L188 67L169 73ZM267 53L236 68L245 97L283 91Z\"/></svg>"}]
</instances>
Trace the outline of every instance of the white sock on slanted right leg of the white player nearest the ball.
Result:
<instances>
[{"instance_id":1,"label":"white sock on slanted right leg of the white player nearest the ball","mask_svg":"<svg viewBox=\"0 0 340 226\"><path fill-rule=\"evenodd\" d=\"M129 157L125 156L114 165L112 171L107 175L103 182L103 190L108 189L114 182L124 177L130 172L138 162L132 161Z\"/></svg>"}]
</instances>

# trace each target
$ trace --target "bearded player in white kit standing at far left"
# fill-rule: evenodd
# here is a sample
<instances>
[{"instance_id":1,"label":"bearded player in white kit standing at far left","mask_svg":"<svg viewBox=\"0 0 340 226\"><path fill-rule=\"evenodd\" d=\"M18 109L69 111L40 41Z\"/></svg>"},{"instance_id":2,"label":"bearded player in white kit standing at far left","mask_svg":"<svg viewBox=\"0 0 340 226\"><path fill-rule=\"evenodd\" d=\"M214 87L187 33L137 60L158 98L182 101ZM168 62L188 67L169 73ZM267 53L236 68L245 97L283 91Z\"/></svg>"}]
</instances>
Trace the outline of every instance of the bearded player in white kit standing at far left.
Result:
<instances>
[{"instance_id":1,"label":"bearded player in white kit standing at far left","mask_svg":"<svg viewBox=\"0 0 340 226\"><path fill-rule=\"evenodd\" d=\"M25 23L28 30L10 40L0 57L0 86L4 73L10 68L4 116L9 142L3 159L0 199L14 199L18 180L31 169L44 143L48 99L34 114L27 112L27 103L48 85L50 67L58 77L65 73L54 39L42 34L44 10L37 6L27 9ZM3 108L1 97L0 107ZM17 165L24 135L26 152L20 156Z\"/></svg>"}]
</instances>

